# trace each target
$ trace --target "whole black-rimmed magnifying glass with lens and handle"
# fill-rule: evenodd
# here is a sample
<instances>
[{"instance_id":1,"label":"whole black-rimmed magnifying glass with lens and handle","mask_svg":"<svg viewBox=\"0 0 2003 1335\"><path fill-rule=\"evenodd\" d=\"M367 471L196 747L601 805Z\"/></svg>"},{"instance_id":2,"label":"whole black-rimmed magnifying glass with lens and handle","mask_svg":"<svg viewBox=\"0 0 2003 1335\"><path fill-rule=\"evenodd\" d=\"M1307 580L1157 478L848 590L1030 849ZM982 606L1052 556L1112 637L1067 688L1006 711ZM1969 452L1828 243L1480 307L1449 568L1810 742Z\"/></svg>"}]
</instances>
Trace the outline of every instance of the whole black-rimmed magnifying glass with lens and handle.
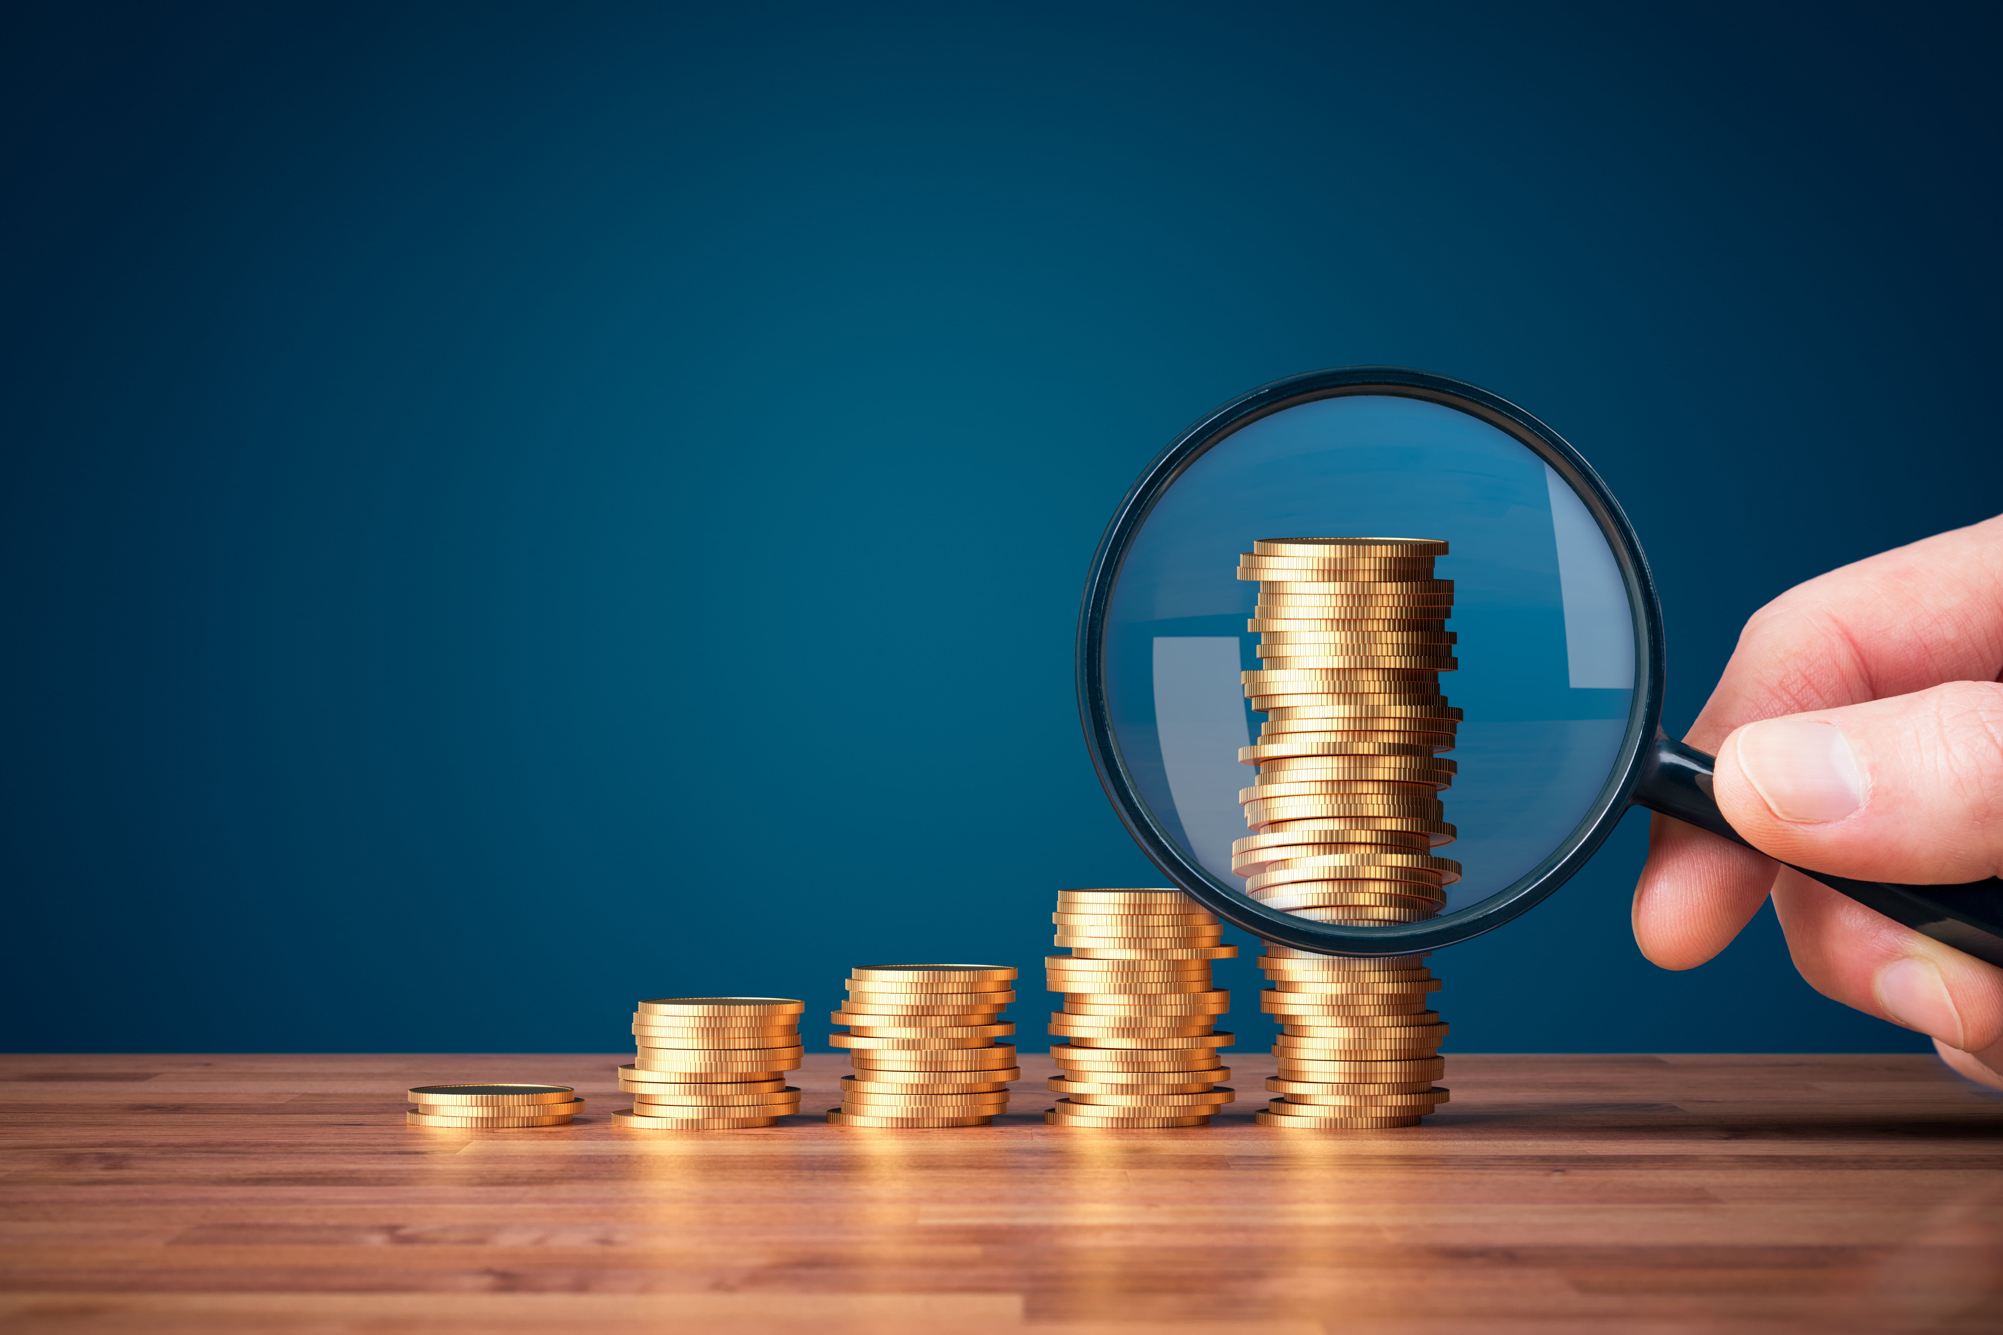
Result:
<instances>
[{"instance_id":1,"label":"whole black-rimmed magnifying glass with lens and handle","mask_svg":"<svg viewBox=\"0 0 2003 1335\"><path fill-rule=\"evenodd\" d=\"M1242 761L1270 749L1260 743L1274 741L1278 715L1330 713L1282 709L1276 701L1302 697L1252 685L1272 656L1268 646L1262 658L1266 630L1360 624L1354 606L1288 608L1348 620L1274 620L1276 604L1262 598L1276 594L1262 590L1280 584L1242 576L1242 560L1270 560L1248 554L1312 550L1286 540L1314 534L1408 534L1446 546L1434 574L1452 580L1450 636L1432 634L1446 622L1424 592L1392 620L1384 606L1364 612L1376 626L1424 626L1412 634L1430 636L1432 650L1446 644L1444 662L1454 664L1424 687L1450 697L1450 709L1432 709L1450 737L1430 739L1430 749L1452 761L1428 771L1446 785L1438 819L1404 823L1432 831L1424 857L1404 863L1458 863L1458 873L1420 877L1436 917L1314 921L1276 909L1284 895L1256 899L1258 883L1244 875L1260 829L1356 825L1262 821L1276 807L1258 801ZM1416 550L1398 540L1384 538L1390 564ZM1302 951L1418 955L1492 931L1564 885L1628 807L1745 843L1711 795L1713 757L1662 735L1662 608L1606 484L1516 404L1420 370L1350 366L1276 380L1170 444L1120 502L1092 558L1078 701L1100 783L1142 851L1218 917ZM1350 797L1356 783L1320 787L1342 789L1348 811L1368 805ZM1889 885L1797 871L2003 965L2003 881Z\"/></svg>"}]
</instances>

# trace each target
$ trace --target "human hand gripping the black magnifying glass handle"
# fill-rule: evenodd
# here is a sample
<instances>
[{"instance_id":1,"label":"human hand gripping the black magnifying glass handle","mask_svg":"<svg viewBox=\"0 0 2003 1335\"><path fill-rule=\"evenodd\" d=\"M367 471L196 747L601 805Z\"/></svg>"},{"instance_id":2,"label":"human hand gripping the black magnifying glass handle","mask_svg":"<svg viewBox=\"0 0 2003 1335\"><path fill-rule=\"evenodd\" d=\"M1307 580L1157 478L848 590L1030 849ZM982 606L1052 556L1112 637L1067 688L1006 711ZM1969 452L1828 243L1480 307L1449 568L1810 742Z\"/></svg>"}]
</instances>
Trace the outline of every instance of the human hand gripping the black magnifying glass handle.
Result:
<instances>
[{"instance_id":1,"label":"human hand gripping the black magnifying glass handle","mask_svg":"<svg viewBox=\"0 0 2003 1335\"><path fill-rule=\"evenodd\" d=\"M2003 518L1799 584L1747 622L1685 741L1717 753L1719 811L1755 849L1654 817L1634 941L1695 969L1767 895L1795 969L1931 1035L2003 1089L2003 969L1921 937L1837 877L1957 885L2003 871Z\"/></svg>"}]
</instances>

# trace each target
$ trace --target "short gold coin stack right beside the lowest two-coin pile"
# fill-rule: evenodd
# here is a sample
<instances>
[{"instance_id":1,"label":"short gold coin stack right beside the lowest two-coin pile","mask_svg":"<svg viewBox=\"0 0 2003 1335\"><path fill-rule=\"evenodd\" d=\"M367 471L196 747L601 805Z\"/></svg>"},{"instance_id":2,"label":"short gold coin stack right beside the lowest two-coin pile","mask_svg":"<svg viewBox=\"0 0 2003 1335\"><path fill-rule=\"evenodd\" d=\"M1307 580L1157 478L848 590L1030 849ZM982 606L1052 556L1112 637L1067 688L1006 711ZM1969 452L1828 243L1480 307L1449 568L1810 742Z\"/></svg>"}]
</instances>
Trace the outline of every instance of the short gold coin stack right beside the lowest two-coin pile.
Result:
<instances>
[{"instance_id":1,"label":"short gold coin stack right beside the lowest two-coin pile","mask_svg":"<svg viewBox=\"0 0 2003 1335\"><path fill-rule=\"evenodd\" d=\"M631 1113L613 1121L635 1131L737 1131L769 1127L799 1111L799 1017L789 997L661 997L639 1003L639 1057L619 1067Z\"/></svg>"}]
</instances>

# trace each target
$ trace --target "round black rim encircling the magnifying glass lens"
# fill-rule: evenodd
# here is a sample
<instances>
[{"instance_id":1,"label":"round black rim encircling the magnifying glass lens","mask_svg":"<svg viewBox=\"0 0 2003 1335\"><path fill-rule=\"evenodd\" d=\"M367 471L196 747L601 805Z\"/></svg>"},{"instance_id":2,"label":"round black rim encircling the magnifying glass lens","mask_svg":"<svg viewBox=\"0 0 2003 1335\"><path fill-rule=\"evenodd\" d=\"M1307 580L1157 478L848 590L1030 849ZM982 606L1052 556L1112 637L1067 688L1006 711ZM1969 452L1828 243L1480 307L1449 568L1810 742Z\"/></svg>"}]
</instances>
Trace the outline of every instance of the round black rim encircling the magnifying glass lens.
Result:
<instances>
[{"instance_id":1,"label":"round black rim encircling the magnifying glass lens","mask_svg":"<svg viewBox=\"0 0 2003 1335\"><path fill-rule=\"evenodd\" d=\"M1140 801L1140 789L1128 773L1120 757L1120 747L1114 741L1112 711L1106 695L1106 620L1114 586L1134 546L1134 538L1148 522L1154 506L1168 494L1168 488L1202 454L1262 416L1272 416L1274 412L1284 412L1286 408L1318 398L1348 398L1356 394L1418 398L1466 412L1514 438L1564 478L1578 498L1584 500L1586 512L1600 526L1600 534L1606 538L1614 562L1620 566L1620 580L1626 584L1628 610L1634 622L1636 664L1634 701L1628 709L1620 753L1606 783L1586 809L1586 817L1572 829L1564 843L1512 885L1476 905L1424 923L1364 929L1314 923L1292 913L1268 909L1248 899L1238 887L1226 885L1186 855L1154 819L1148 805ZM1606 482L1592 470L1592 464L1538 418L1466 380L1410 366L1310 370L1300 376L1262 384L1250 394L1242 394L1200 418L1176 436L1128 490L1126 500L1120 502L1112 524L1106 526L1106 534L1100 538L1100 546L1092 556L1092 572L1086 576L1086 596L1078 614L1078 713L1086 729L1086 745L1092 751L1092 765L1100 773L1100 787L1106 789L1106 797L1112 801L1114 811L1120 813L1120 821L1128 827L1128 833L1134 835L1134 841L1170 881L1220 919L1266 941L1322 955L1418 955L1470 941L1526 913L1564 885L1606 841L1614 825L1620 823L1634 785L1640 779L1642 753L1654 739L1662 717L1662 604L1656 596L1654 576L1648 572L1648 558L1642 554L1640 540L1620 510L1620 502L1606 490Z\"/></svg>"}]
</instances>

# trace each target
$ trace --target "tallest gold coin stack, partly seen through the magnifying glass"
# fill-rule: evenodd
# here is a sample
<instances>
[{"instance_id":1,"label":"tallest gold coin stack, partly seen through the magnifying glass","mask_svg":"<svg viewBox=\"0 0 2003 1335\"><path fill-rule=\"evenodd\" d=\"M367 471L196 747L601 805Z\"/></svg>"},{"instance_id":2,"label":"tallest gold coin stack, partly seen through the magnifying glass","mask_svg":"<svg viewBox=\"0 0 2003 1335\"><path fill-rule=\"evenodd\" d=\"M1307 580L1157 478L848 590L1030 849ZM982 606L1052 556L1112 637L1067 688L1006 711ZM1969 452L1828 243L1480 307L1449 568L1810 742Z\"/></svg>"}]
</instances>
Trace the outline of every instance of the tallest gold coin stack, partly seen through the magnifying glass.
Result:
<instances>
[{"instance_id":1,"label":"tallest gold coin stack, partly seen through the magnifying glass","mask_svg":"<svg viewBox=\"0 0 2003 1335\"><path fill-rule=\"evenodd\" d=\"M1458 666L1454 584L1432 576L1444 554L1434 538L1262 538L1238 558L1238 578L1260 584L1244 689L1266 715L1238 753L1258 767L1240 793L1254 833L1232 845L1252 899L1320 923L1416 923L1460 879L1432 853L1454 839L1438 795L1456 767L1440 753L1460 727L1440 693ZM1446 1025L1426 1009L1438 983L1420 957L1270 945L1262 967L1276 987L1260 1005L1284 1029L1268 1083L1282 1097L1260 1123L1402 1127L1444 1101L1430 1079Z\"/></svg>"}]
</instances>

